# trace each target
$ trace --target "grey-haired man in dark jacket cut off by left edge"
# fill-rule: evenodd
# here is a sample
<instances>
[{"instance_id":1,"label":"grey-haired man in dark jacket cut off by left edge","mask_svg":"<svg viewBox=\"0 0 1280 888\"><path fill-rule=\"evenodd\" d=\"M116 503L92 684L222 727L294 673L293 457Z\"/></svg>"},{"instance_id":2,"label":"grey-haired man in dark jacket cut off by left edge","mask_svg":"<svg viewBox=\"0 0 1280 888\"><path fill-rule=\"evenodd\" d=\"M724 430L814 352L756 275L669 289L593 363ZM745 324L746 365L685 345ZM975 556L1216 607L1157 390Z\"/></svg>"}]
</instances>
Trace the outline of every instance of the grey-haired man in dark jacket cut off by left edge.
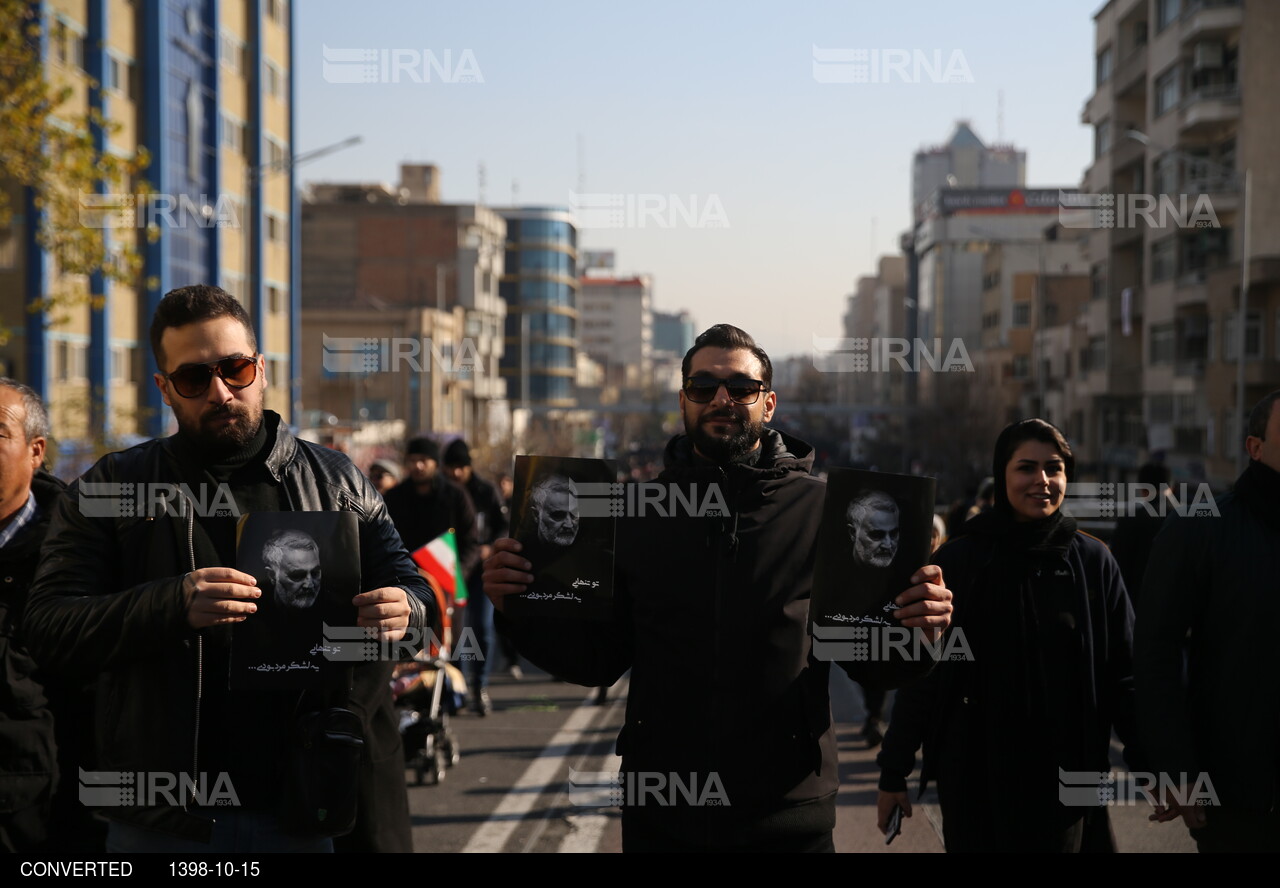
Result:
<instances>
[{"instance_id":1,"label":"grey-haired man in dark jacket cut off by left edge","mask_svg":"<svg viewBox=\"0 0 1280 888\"><path fill-rule=\"evenodd\" d=\"M40 397L0 379L0 851L9 853L45 850L58 784L54 715L22 637L49 514L67 486L40 468L47 435Z\"/></svg>"}]
</instances>

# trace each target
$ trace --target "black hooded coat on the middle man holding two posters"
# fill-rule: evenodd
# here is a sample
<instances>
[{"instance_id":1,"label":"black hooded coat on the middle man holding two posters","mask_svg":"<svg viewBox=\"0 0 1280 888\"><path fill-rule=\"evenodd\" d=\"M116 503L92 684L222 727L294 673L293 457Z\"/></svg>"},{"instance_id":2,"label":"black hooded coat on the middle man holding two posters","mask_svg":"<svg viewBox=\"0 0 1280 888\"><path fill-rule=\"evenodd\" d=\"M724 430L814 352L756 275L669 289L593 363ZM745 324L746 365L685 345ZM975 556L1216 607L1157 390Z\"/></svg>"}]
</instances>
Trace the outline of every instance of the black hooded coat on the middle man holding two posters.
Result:
<instances>
[{"instance_id":1,"label":"black hooded coat on the middle man holding two posters","mask_svg":"<svg viewBox=\"0 0 1280 888\"><path fill-rule=\"evenodd\" d=\"M631 669L617 742L623 769L668 782L694 774L695 796L722 787L728 798L690 805L677 792L659 806L628 797L623 816L681 843L767 847L835 827L829 663L813 655L809 636L826 484L809 473L804 441L767 430L762 447L758 466L723 470L695 464L684 435L668 444L658 480L696 485L699 503L721 485L730 513L620 519L611 623L500 621L522 655L579 685L612 685ZM841 665L892 687L933 663Z\"/></svg>"}]
</instances>

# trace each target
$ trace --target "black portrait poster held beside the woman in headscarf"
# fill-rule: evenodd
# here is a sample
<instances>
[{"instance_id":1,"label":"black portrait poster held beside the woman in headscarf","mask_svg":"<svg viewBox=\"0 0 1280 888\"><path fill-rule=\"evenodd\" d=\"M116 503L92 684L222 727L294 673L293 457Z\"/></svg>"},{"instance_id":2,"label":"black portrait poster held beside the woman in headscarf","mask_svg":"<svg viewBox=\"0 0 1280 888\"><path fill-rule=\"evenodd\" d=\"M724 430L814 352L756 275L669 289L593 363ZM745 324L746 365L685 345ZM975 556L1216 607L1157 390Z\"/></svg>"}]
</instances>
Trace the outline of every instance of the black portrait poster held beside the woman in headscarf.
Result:
<instances>
[{"instance_id":1,"label":"black portrait poster held beside the woman in headscarf","mask_svg":"<svg viewBox=\"0 0 1280 888\"><path fill-rule=\"evenodd\" d=\"M814 627L896 626L892 599L929 563L937 482L833 468L818 530Z\"/></svg>"}]
</instances>

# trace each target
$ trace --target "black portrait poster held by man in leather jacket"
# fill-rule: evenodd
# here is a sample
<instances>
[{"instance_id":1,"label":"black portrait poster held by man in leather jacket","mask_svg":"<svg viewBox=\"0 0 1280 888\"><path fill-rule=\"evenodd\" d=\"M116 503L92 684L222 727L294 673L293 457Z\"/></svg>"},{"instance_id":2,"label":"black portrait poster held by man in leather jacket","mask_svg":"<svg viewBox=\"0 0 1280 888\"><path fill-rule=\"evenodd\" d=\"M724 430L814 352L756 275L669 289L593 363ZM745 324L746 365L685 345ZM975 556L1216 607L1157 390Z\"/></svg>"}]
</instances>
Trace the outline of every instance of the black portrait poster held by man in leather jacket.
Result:
<instances>
[{"instance_id":1,"label":"black portrait poster held by man in leather jacket","mask_svg":"<svg viewBox=\"0 0 1280 888\"><path fill-rule=\"evenodd\" d=\"M262 590L232 632L233 688L333 686L355 647L329 635L355 627L360 532L353 512L255 512L241 518L236 568ZM326 627L329 627L326 630ZM349 637L351 628L346 628Z\"/></svg>"}]
</instances>

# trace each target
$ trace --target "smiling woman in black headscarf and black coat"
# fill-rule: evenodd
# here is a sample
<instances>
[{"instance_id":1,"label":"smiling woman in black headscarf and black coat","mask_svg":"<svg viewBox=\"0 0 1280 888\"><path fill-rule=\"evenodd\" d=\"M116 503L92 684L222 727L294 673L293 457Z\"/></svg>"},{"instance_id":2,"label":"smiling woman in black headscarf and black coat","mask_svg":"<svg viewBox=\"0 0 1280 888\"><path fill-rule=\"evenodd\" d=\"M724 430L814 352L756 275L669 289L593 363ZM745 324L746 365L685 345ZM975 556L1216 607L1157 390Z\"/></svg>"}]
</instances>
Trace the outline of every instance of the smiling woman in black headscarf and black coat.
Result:
<instances>
[{"instance_id":1,"label":"smiling woman in black headscarf and black coat","mask_svg":"<svg viewBox=\"0 0 1280 888\"><path fill-rule=\"evenodd\" d=\"M1133 736L1133 612L1107 548L1061 509L1074 468L1051 424L1006 427L995 508L934 555L964 633L948 650L972 658L899 691L877 759L882 829L893 805L910 816L923 743L947 851L1114 850L1106 809L1079 802L1110 770L1112 727Z\"/></svg>"}]
</instances>

